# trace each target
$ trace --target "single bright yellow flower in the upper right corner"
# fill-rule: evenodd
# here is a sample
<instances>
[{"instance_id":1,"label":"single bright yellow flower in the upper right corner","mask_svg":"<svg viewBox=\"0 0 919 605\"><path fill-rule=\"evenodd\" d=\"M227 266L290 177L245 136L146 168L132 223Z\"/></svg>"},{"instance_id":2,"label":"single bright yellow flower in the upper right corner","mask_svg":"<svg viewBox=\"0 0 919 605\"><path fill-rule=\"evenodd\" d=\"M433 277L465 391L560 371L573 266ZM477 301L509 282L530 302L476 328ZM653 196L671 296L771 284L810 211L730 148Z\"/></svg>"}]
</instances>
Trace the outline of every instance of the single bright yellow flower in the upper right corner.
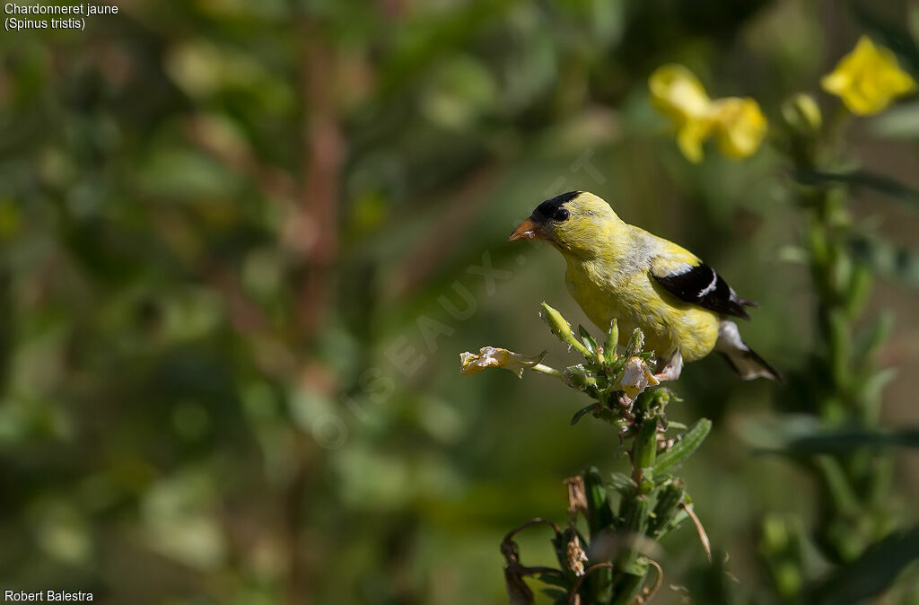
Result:
<instances>
[{"instance_id":1,"label":"single bright yellow flower in the upper right corner","mask_svg":"<svg viewBox=\"0 0 919 605\"><path fill-rule=\"evenodd\" d=\"M858 40L855 50L840 60L832 74L823 76L821 85L860 116L877 113L894 97L916 88L913 76L900 69L893 52L875 46L868 36Z\"/></svg>"}]
</instances>

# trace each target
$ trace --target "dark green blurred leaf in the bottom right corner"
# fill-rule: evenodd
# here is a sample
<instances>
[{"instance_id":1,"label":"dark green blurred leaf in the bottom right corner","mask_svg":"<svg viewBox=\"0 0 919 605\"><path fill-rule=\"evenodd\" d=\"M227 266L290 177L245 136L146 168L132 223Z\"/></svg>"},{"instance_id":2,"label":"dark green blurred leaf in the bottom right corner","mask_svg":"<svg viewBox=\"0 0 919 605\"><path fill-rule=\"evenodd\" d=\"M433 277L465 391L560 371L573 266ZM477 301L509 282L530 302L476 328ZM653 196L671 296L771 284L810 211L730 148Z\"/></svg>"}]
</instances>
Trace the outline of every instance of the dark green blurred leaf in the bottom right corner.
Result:
<instances>
[{"instance_id":1,"label":"dark green blurred leaf in the bottom right corner","mask_svg":"<svg viewBox=\"0 0 919 605\"><path fill-rule=\"evenodd\" d=\"M903 568L919 560L919 526L892 533L855 561L834 569L811 586L807 602L856 605L891 587Z\"/></svg>"}]
</instances>

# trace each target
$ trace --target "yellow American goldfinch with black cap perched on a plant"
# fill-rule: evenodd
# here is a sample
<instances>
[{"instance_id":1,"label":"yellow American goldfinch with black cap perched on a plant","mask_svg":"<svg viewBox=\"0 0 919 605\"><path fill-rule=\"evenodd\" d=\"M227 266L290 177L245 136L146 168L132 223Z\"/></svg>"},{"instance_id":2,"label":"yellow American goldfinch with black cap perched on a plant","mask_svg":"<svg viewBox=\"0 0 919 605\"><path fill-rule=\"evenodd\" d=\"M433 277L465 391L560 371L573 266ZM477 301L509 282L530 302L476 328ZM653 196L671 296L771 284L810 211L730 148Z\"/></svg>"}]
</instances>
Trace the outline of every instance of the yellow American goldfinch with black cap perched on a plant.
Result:
<instances>
[{"instance_id":1,"label":"yellow American goldfinch with black cap perched on a plant","mask_svg":"<svg viewBox=\"0 0 919 605\"><path fill-rule=\"evenodd\" d=\"M518 239L544 239L562 253L568 291L600 329L618 321L620 344L640 327L659 360L659 380L675 380L684 361L712 350L744 380L781 380L729 319L749 319L743 307L754 302L683 247L623 222L593 193L542 202L509 238Z\"/></svg>"}]
</instances>

